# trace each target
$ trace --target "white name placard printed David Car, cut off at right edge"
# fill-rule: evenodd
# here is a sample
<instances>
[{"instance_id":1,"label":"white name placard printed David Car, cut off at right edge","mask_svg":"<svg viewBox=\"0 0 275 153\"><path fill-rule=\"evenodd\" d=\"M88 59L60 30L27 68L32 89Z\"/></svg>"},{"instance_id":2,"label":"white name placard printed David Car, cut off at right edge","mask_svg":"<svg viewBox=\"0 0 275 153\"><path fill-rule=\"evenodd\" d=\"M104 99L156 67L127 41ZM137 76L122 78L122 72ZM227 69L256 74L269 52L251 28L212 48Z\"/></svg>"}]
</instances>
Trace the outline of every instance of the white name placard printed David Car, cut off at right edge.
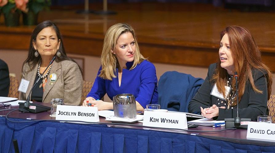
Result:
<instances>
[{"instance_id":1,"label":"white name placard printed David Car, cut off at right edge","mask_svg":"<svg viewBox=\"0 0 275 153\"><path fill-rule=\"evenodd\" d=\"M249 122L247 127L246 138L275 141L275 124Z\"/></svg>"}]
</instances>

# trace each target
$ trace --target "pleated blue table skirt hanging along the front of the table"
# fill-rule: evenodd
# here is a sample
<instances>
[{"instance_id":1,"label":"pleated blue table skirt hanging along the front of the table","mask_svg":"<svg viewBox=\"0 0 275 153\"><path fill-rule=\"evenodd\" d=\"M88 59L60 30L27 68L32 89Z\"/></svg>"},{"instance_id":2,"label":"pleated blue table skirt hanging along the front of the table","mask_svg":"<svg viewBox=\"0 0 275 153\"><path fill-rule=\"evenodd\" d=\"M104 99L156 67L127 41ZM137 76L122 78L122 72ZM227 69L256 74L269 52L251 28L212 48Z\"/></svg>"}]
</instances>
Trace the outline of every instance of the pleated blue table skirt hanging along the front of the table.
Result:
<instances>
[{"instance_id":1,"label":"pleated blue table skirt hanging along the front of the table","mask_svg":"<svg viewBox=\"0 0 275 153\"><path fill-rule=\"evenodd\" d=\"M13 119L23 121L23 119ZM200 136L57 122L11 123L0 117L0 153L271 153L275 147Z\"/></svg>"}]
</instances>

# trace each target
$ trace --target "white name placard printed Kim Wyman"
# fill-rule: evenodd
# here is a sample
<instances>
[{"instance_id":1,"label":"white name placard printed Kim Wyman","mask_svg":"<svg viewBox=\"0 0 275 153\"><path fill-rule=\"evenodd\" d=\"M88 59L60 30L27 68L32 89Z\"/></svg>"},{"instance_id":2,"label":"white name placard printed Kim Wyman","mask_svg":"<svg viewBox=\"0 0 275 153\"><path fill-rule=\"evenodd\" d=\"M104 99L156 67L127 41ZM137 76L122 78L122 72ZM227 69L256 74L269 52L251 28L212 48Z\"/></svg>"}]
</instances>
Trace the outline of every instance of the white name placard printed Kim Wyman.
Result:
<instances>
[{"instance_id":1,"label":"white name placard printed Kim Wyman","mask_svg":"<svg viewBox=\"0 0 275 153\"><path fill-rule=\"evenodd\" d=\"M143 126L165 127L171 129L188 128L186 114L158 111L144 111Z\"/></svg>"}]
</instances>

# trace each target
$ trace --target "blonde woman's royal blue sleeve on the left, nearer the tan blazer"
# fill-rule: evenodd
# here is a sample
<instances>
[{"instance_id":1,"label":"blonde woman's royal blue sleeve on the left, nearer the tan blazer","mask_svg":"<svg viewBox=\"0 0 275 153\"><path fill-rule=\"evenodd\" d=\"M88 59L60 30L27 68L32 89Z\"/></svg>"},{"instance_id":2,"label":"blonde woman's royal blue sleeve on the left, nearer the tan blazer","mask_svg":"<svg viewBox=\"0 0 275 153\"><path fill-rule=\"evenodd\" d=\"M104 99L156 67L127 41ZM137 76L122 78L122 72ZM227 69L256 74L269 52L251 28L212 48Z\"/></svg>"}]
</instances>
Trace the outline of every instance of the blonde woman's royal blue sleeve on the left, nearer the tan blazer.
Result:
<instances>
[{"instance_id":1,"label":"blonde woman's royal blue sleeve on the left, nearer the tan blazer","mask_svg":"<svg viewBox=\"0 0 275 153\"><path fill-rule=\"evenodd\" d=\"M106 94L105 79L102 79L98 76L100 74L101 69L102 67L100 66L95 82L92 86L91 91L88 93L87 97L93 97L94 99L101 99Z\"/></svg>"}]
</instances>

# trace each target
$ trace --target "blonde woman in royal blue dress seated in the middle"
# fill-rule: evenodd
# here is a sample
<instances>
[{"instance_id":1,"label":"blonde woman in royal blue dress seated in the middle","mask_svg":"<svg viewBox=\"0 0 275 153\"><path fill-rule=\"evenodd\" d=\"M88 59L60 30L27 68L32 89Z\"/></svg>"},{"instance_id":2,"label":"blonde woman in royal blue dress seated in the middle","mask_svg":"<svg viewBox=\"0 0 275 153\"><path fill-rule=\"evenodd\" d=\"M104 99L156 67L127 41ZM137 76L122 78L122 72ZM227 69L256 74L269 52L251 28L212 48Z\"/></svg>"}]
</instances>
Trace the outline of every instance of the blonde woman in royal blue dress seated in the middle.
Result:
<instances>
[{"instance_id":1,"label":"blonde woman in royal blue dress seated in the middle","mask_svg":"<svg viewBox=\"0 0 275 153\"><path fill-rule=\"evenodd\" d=\"M106 32L101 66L83 106L91 103L98 110L113 109L112 103L98 100L106 93L110 99L133 94L137 111L158 100L155 66L140 54L135 31L125 23L117 23Z\"/></svg>"}]
</instances>

